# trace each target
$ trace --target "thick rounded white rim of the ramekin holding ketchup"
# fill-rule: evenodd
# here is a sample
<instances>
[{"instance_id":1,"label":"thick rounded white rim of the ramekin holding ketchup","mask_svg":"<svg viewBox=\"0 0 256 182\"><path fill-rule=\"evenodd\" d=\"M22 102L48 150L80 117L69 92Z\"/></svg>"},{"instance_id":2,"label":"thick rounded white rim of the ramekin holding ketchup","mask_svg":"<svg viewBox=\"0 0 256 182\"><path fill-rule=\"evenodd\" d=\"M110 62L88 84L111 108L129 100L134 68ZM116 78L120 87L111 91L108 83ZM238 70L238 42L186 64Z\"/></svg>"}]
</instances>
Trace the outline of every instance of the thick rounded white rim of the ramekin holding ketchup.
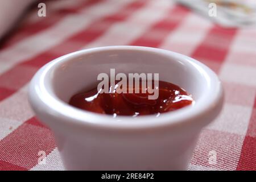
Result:
<instances>
[{"instance_id":1,"label":"thick rounded white rim of the ramekin holding ketchup","mask_svg":"<svg viewBox=\"0 0 256 182\"><path fill-rule=\"evenodd\" d=\"M208 92L201 96L200 101L197 101L193 106L186 106L179 110L170 113L162 113L159 117L155 115L144 115L137 118L130 116L118 116L113 118L111 115L97 114L90 111L77 109L64 101L61 101L54 94L51 94L46 89L46 75L62 64L63 61L72 60L72 57L84 55L87 53L107 51L107 50L137 50L150 51L160 53L162 55L171 56L172 58L179 58L185 64L191 64L195 69L203 74L207 80ZM90 127L100 127L105 129L152 129L152 127L165 127L189 123L195 118L203 117L221 102L223 90L221 82L217 75L206 65L191 57L181 55L180 53L168 51L165 49L141 47L141 46L107 46L90 49L83 49L61 56L39 69L39 71L32 78L29 90L29 100L32 107L40 107L43 114L51 114L53 122L67 122L74 125L86 125ZM34 108L35 110L35 108ZM209 121L202 121L197 119L197 122L207 125ZM195 122L192 124L196 124Z\"/></svg>"}]
</instances>

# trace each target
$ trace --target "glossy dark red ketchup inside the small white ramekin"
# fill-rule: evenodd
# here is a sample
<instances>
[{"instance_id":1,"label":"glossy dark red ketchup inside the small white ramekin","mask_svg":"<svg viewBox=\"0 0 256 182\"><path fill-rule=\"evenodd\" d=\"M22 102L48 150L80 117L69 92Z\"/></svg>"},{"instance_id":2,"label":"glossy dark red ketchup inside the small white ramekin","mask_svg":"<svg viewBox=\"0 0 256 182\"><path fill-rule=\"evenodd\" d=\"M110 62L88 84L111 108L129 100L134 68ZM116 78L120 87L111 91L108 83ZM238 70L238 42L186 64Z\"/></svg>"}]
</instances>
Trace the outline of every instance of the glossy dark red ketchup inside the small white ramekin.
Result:
<instances>
[{"instance_id":1,"label":"glossy dark red ketchup inside the small white ramekin","mask_svg":"<svg viewBox=\"0 0 256 182\"><path fill-rule=\"evenodd\" d=\"M100 73L95 88L84 89L71 97L69 104L94 113L118 115L155 114L191 105L193 98L180 86L159 80L154 73L118 73L110 69L110 77Z\"/></svg>"}]
</instances>

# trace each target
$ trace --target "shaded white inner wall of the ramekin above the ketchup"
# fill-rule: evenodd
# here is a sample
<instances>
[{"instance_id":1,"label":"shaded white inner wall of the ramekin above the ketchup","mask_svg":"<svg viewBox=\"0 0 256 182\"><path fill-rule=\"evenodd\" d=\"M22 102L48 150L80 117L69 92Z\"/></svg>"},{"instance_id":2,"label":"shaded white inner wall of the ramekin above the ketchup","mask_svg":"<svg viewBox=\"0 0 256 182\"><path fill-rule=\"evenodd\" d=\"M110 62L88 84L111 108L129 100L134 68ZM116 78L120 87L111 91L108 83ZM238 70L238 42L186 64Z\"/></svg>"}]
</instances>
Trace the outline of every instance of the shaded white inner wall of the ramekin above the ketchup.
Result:
<instances>
[{"instance_id":1,"label":"shaded white inner wall of the ramekin above the ketchup","mask_svg":"<svg viewBox=\"0 0 256 182\"><path fill-rule=\"evenodd\" d=\"M206 80L191 61L152 51L108 50L77 55L60 61L53 71L52 88L68 102L76 93L97 86L100 73L159 73L159 80L171 82L192 94L195 101L205 92Z\"/></svg>"}]
</instances>

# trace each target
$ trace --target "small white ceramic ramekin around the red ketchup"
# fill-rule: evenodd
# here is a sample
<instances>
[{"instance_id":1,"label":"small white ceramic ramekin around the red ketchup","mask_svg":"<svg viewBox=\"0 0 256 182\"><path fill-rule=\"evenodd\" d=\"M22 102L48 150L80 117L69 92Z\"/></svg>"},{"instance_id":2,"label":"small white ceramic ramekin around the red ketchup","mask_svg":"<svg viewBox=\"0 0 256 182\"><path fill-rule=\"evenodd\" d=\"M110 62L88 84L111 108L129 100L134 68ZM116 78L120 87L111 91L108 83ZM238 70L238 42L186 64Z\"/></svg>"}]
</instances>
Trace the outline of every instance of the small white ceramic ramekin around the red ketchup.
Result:
<instances>
[{"instance_id":1,"label":"small white ceramic ramekin around the red ketchup","mask_svg":"<svg viewBox=\"0 0 256 182\"><path fill-rule=\"evenodd\" d=\"M159 73L181 86L195 104L159 117L118 117L83 111L69 98L97 82L99 73ZM200 130L223 102L216 74L204 64L157 48L111 46L59 57L31 81L29 99L36 116L56 139L66 169L187 169Z\"/></svg>"}]
</instances>

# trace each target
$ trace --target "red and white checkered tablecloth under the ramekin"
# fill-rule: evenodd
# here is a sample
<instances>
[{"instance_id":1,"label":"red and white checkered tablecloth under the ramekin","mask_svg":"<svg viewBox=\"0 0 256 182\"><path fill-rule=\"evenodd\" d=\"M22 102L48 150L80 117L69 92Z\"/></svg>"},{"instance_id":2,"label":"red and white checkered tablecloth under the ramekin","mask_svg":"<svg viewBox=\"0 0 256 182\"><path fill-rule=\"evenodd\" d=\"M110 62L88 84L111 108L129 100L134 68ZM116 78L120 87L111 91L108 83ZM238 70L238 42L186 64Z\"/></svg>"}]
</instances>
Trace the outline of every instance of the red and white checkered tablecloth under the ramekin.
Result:
<instances>
[{"instance_id":1,"label":"red and white checkered tablecloth under the ramekin","mask_svg":"<svg viewBox=\"0 0 256 182\"><path fill-rule=\"evenodd\" d=\"M188 169L256 170L256 28L223 28L169 0L45 3L46 17L35 5L1 43L1 170L64 169L51 130L30 109L28 83L56 57L110 45L169 49L212 68L224 109L201 132Z\"/></svg>"}]
</instances>

